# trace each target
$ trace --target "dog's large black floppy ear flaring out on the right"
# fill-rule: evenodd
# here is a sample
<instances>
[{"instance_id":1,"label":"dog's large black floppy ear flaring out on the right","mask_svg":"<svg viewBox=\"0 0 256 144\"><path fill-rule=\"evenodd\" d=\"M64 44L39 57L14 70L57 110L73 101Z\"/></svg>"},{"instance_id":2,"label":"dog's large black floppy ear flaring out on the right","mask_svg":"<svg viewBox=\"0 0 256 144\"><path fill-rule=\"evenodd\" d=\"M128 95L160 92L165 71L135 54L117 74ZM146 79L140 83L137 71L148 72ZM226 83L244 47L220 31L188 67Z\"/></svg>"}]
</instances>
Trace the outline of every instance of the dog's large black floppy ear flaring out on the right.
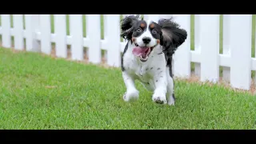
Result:
<instances>
[{"instance_id":1,"label":"dog's large black floppy ear flaring out on the right","mask_svg":"<svg viewBox=\"0 0 256 144\"><path fill-rule=\"evenodd\" d=\"M170 19L160 19L158 25L161 27L162 36L160 44L164 47L167 54L174 54L178 46L181 46L187 38L186 30L179 28L178 23Z\"/></svg>"}]
</instances>

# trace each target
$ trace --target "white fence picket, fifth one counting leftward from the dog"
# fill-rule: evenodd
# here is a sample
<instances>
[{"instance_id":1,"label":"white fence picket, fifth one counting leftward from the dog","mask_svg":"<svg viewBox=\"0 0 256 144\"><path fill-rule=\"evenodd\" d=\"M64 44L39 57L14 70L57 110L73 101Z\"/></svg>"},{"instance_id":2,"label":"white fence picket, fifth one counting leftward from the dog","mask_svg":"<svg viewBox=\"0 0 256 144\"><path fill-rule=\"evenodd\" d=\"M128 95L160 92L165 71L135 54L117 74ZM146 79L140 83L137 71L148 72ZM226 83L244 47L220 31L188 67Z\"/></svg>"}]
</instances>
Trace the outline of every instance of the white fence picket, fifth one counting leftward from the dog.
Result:
<instances>
[{"instance_id":1,"label":"white fence picket, fifth one counting leftward from the dog","mask_svg":"<svg viewBox=\"0 0 256 144\"><path fill-rule=\"evenodd\" d=\"M50 14L40 15L40 29L41 29L41 51L44 54L50 54L51 53Z\"/></svg>"}]
</instances>

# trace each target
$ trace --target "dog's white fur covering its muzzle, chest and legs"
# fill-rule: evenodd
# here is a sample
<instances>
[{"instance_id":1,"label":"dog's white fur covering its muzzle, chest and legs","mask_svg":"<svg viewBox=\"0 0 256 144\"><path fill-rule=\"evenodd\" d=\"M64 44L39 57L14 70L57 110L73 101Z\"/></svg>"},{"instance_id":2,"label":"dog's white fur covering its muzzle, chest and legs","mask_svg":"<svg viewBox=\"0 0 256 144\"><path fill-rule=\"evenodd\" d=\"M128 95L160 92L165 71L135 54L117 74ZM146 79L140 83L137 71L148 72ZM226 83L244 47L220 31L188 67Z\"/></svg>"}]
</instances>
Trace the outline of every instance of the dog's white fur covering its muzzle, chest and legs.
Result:
<instances>
[{"instance_id":1,"label":"dog's white fur covering its muzzle, chest and legs","mask_svg":"<svg viewBox=\"0 0 256 144\"><path fill-rule=\"evenodd\" d=\"M147 31L137 38L136 42L142 41L144 36L151 38L150 46L156 44L156 39ZM152 96L154 102L174 105L174 98L172 97L174 82L170 77L169 67L166 67L164 54L159 54L162 52L160 45L154 47L146 62L141 62L138 57L132 54L134 47L134 42L133 44L129 42L128 49L123 55L123 67L125 70L122 72L122 77L126 84L126 93L123 99L126 102L134 102L134 100L138 99L139 92L134 85L134 81L138 80L147 90L154 92Z\"/></svg>"}]
</instances>

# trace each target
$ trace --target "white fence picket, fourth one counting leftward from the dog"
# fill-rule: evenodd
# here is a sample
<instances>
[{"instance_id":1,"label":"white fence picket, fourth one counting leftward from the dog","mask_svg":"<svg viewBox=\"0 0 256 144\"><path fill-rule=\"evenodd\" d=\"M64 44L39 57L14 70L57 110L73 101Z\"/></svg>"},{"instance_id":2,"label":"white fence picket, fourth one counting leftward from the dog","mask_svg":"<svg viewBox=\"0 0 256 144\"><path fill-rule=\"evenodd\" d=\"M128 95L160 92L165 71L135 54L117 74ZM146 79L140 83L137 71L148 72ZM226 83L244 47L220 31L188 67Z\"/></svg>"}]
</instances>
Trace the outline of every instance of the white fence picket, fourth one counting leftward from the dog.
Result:
<instances>
[{"instance_id":1,"label":"white fence picket, fourth one counting leftward from the dog","mask_svg":"<svg viewBox=\"0 0 256 144\"><path fill-rule=\"evenodd\" d=\"M54 30L56 35L56 56L66 58L66 14L54 14Z\"/></svg>"}]
</instances>

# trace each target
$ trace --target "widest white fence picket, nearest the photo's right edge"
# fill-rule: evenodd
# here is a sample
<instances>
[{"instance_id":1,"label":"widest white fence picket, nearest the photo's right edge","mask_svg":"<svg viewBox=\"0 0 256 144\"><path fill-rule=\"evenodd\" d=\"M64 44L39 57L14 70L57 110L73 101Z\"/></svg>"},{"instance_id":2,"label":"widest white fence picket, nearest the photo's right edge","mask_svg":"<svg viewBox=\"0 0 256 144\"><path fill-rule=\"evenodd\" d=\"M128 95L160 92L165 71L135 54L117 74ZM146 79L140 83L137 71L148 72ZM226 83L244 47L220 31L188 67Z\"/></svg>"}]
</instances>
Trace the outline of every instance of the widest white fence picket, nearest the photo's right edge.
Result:
<instances>
[{"instance_id":1,"label":"widest white fence picket, nearest the photo's right edge","mask_svg":"<svg viewBox=\"0 0 256 144\"><path fill-rule=\"evenodd\" d=\"M251 22L251 14L230 15L230 83L245 90L250 89L251 81Z\"/></svg>"}]
</instances>

